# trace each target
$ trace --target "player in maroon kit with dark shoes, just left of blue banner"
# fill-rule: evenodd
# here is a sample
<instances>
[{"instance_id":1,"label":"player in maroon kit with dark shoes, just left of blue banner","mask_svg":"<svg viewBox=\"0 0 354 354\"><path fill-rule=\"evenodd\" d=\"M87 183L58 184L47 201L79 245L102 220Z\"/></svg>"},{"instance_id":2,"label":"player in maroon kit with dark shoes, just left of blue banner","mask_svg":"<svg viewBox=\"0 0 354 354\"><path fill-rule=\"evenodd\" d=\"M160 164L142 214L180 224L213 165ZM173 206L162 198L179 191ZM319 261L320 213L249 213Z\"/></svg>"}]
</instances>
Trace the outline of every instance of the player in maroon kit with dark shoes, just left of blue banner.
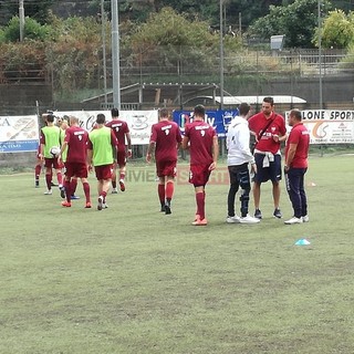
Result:
<instances>
[{"instance_id":1,"label":"player in maroon kit with dark shoes, just left of blue banner","mask_svg":"<svg viewBox=\"0 0 354 354\"><path fill-rule=\"evenodd\" d=\"M171 214L170 202L175 190L177 152L180 143L181 135L177 123L169 119L166 108L160 110L159 122L152 126L146 160L150 163L155 149L156 173L159 179L157 192L162 211L166 215Z\"/></svg>"}]
</instances>

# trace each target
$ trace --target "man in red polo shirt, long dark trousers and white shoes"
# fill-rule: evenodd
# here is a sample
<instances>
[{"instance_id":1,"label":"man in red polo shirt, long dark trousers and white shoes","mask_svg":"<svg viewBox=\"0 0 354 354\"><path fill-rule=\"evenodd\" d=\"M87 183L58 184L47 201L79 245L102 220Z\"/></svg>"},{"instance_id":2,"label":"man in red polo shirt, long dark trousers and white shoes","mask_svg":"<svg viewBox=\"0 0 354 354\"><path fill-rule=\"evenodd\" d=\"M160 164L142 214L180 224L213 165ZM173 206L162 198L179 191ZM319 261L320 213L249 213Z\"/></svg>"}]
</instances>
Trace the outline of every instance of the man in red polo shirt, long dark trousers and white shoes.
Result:
<instances>
[{"instance_id":1,"label":"man in red polo shirt, long dark trousers and white shoes","mask_svg":"<svg viewBox=\"0 0 354 354\"><path fill-rule=\"evenodd\" d=\"M302 123L301 112L292 110L288 117L292 126L285 146L285 184L294 216L287 225L308 222L308 198L304 190L304 175L308 170L310 134Z\"/></svg>"}]
</instances>

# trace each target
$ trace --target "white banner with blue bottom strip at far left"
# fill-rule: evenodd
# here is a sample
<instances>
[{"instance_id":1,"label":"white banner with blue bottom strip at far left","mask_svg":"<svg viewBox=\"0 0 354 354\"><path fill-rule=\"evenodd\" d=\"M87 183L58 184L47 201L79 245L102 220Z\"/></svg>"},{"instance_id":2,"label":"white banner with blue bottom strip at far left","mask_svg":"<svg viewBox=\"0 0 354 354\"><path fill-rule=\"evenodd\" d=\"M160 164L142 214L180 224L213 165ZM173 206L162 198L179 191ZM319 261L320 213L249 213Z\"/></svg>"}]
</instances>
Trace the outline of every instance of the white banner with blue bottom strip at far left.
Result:
<instances>
[{"instance_id":1,"label":"white banner with blue bottom strip at far left","mask_svg":"<svg viewBox=\"0 0 354 354\"><path fill-rule=\"evenodd\" d=\"M0 116L0 153L37 152L38 144L37 115Z\"/></svg>"}]
</instances>

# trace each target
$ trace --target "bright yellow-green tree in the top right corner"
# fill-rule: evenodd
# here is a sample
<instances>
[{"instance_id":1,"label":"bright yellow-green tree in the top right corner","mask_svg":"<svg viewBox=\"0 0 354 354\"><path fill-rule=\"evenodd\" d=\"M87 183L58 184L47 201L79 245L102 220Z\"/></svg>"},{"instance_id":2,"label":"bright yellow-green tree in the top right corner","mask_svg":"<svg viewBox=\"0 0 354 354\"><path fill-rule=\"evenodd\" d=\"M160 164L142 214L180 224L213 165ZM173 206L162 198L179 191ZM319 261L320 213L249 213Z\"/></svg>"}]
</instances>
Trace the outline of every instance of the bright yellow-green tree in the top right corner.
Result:
<instances>
[{"instance_id":1,"label":"bright yellow-green tree in the top right corner","mask_svg":"<svg viewBox=\"0 0 354 354\"><path fill-rule=\"evenodd\" d=\"M317 44L317 35L314 38ZM354 12L330 11L322 25L322 45L324 48L346 49L354 44Z\"/></svg>"}]
</instances>

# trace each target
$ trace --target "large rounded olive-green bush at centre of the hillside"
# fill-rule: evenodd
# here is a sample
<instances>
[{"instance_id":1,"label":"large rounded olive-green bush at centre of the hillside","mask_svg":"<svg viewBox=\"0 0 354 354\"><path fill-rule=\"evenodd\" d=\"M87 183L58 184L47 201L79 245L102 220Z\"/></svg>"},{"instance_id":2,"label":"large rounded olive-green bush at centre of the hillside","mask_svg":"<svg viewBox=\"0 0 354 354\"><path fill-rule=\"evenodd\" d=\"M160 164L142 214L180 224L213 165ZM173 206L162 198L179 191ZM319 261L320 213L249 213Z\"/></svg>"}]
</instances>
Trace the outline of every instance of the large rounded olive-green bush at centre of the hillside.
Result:
<instances>
[{"instance_id":1,"label":"large rounded olive-green bush at centre of the hillside","mask_svg":"<svg viewBox=\"0 0 354 354\"><path fill-rule=\"evenodd\" d=\"M132 35L133 56L139 65L181 67L200 72L214 65L218 54L218 37L212 35L207 22L189 21L171 8L150 13L146 23ZM186 70L186 66L185 66Z\"/></svg>"}]
</instances>

